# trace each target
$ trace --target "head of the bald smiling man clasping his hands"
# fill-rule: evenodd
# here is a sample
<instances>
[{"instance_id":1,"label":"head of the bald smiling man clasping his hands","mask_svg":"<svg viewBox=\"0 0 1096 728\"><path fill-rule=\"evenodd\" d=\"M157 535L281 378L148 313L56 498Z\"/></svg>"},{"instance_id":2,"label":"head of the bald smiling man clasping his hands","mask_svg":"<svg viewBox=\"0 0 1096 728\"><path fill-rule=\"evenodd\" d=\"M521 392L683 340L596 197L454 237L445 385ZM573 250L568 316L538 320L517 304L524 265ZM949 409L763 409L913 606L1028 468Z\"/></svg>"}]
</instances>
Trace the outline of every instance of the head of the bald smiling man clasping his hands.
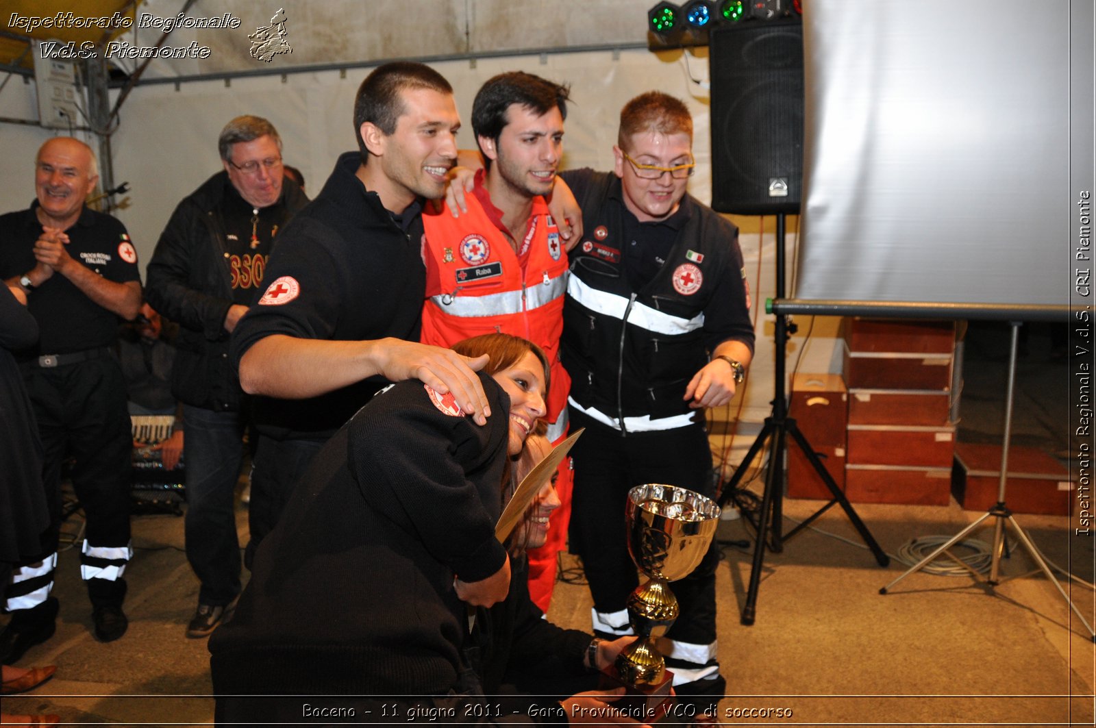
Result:
<instances>
[{"instance_id":1,"label":"head of the bald smiling man clasping his hands","mask_svg":"<svg viewBox=\"0 0 1096 728\"><path fill-rule=\"evenodd\" d=\"M91 147L72 137L46 141L35 160L39 220L62 230L71 227L98 181L99 169Z\"/></svg>"}]
</instances>

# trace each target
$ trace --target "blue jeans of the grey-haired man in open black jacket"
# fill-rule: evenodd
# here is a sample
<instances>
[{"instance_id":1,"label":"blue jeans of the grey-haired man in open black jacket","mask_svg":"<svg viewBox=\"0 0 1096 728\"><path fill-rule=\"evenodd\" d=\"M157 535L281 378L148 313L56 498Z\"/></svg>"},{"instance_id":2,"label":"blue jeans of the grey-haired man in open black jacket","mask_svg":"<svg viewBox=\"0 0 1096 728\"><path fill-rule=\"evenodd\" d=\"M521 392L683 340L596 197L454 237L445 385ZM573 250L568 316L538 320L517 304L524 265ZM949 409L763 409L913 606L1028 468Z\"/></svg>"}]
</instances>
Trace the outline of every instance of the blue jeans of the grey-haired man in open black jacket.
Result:
<instances>
[{"instance_id":1,"label":"blue jeans of the grey-haired man in open black jacket","mask_svg":"<svg viewBox=\"0 0 1096 728\"><path fill-rule=\"evenodd\" d=\"M225 606L240 593L236 482L243 460L239 412L183 406L186 560L202 582L198 603Z\"/></svg>"}]
</instances>

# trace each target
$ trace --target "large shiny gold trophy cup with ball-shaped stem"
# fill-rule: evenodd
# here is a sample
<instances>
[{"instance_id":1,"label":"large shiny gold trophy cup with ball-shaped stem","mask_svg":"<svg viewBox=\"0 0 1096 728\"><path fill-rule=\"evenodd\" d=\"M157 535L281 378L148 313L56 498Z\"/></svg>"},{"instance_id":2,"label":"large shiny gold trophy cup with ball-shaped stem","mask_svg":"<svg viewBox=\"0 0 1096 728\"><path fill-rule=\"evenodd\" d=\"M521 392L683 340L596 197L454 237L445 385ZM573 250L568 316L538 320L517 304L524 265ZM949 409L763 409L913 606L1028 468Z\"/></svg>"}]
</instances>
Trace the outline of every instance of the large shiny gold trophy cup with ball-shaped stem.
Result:
<instances>
[{"instance_id":1,"label":"large shiny gold trophy cup with ball-shaped stem","mask_svg":"<svg viewBox=\"0 0 1096 728\"><path fill-rule=\"evenodd\" d=\"M677 599L669 582L687 577L708 551L719 505L700 493L648 484L628 491L625 519L628 553L650 581L628 598L628 622L639 638L616 659L616 672L631 695L643 696L643 715L658 719L670 695L672 673L654 640L677 618Z\"/></svg>"}]
</instances>

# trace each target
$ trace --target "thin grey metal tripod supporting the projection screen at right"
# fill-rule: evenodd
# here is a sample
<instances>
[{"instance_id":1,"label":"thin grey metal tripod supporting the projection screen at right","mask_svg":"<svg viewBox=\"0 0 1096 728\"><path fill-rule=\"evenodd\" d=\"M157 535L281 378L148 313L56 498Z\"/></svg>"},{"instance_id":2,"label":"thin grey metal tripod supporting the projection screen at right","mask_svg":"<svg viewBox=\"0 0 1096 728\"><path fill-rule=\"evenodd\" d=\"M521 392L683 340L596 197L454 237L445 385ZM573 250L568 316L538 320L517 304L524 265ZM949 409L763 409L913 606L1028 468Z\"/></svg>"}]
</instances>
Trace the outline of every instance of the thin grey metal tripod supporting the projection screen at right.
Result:
<instances>
[{"instance_id":1,"label":"thin grey metal tripod supporting the projection screen at right","mask_svg":"<svg viewBox=\"0 0 1096 728\"><path fill-rule=\"evenodd\" d=\"M1081 619L1081 623L1085 625L1085 629L1088 630L1089 638L1094 642L1096 642L1096 633L1093 632L1093 628L1088 625L1088 622L1085 619L1084 615L1081 614L1081 611L1073 603L1073 600L1070 599L1070 595L1065 593L1064 589L1062 589L1062 584L1054 577L1053 572L1051 572L1050 567L1047 566L1047 561L1046 559L1042 558L1042 555L1039 553L1039 549L1035 547L1035 544L1032 544L1031 539L1028 538L1028 535L1024 532L1024 528L1021 528L1020 524L1018 524L1016 522L1016 519L1013 517L1013 512L1008 510L1008 507L1005 504L1005 485L1008 481L1008 443L1009 440L1012 439L1012 426L1013 426L1013 396L1016 390L1016 349L1017 349L1017 343L1019 341L1020 322L1013 321L1012 327L1013 327L1013 335L1008 351L1008 379L1005 386L1005 426L1004 426L1004 435L1002 436L1002 443L1001 443L1001 477L997 481L997 502L992 508L990 508L990 510L986 511L978 521L974 521L969 526L957 533L948 542L939 546L935 551L933 551L925 558L921 559L921 561L918 561L914 566L912 566L901 577L899 577L894 581L890 582L889 584L880 589L879 593L886 594L891 587L902 581L911 573L920 571L922 568L925 567L926 564L933 561L937 556L944 554L945 551L947 551L948 548L962 541L963 537L971 531L982 525L982 522L984 522L986 519L995 519L993 523L993 548L992 548L992 558L990 561L990 578L986 579L985 583L990 584L991 587L996 587L997 584L1001 583L1001 579L998 579L998 576L1001 573L1001 556L1004 553L1005 548L1005 523L1007 522L1008 525L1013 527L1013 531L1016 534L1016 538L1019 539L1021 544L1024 544L1024 548L1027 549L1028 554L1031 556L1036 565L1039 567L1039 570L1042 571L1044 575L1047 575L1047 578L1050 579L1050 583L1054 584L1054 587L1058 589L1058 593L1062 595L1062 599L1065 600L1065 603L1070 605L1070 608L1073 610L1073 613L1076 614L1077 618ZM951 556L950 551L948 551L948 556ZM951 558L955 557L951 556ZM978 573L974 572L973 569L970 569L970 571L974 575L975 578L978 577Z\"/></svg>"}]
</instances>

